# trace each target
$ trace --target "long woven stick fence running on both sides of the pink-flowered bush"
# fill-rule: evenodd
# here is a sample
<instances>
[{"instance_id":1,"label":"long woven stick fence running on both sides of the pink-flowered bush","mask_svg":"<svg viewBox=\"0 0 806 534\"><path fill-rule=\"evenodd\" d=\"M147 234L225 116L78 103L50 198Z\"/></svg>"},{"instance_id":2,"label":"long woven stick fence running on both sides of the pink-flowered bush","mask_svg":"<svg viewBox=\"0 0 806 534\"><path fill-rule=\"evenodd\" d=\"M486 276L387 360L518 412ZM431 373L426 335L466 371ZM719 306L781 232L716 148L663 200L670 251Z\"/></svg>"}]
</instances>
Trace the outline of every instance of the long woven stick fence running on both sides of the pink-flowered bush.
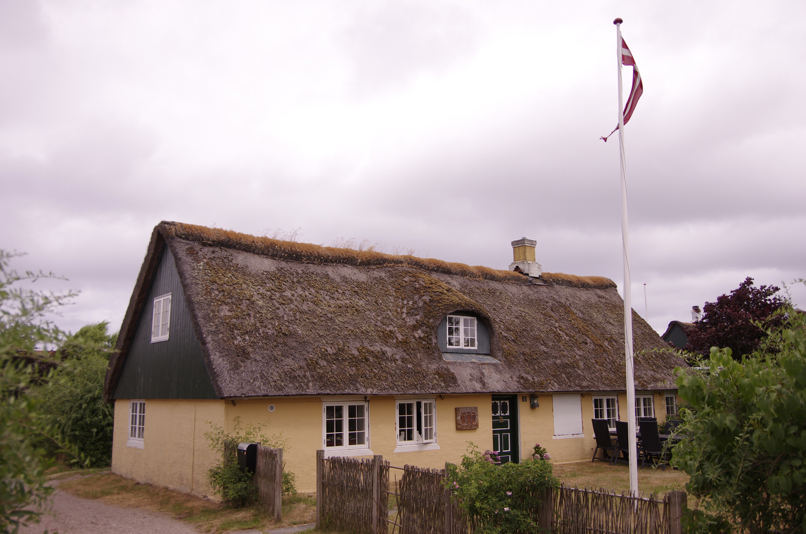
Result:
<instances>
[{"instance_id":1,"label":"long woven stick fence running on both sides of the pink-flowered bush","mask_svg":"<svg viewBox=\"0 0 806 534\"><path fill-rule=\"evenodd\" d=\"M403 474L389 486L389 470ZM325 459L317 452L317 527L356 534L469 534L476 532L445 484L447 469L393 467L372 460ZM388 519L388 496L397 513ZM519 495L538 524L554 534L682 534L684 491L633 497L567 486ZM391 531L389 530L391 526Z\"/></svg>"}]
</instances>

